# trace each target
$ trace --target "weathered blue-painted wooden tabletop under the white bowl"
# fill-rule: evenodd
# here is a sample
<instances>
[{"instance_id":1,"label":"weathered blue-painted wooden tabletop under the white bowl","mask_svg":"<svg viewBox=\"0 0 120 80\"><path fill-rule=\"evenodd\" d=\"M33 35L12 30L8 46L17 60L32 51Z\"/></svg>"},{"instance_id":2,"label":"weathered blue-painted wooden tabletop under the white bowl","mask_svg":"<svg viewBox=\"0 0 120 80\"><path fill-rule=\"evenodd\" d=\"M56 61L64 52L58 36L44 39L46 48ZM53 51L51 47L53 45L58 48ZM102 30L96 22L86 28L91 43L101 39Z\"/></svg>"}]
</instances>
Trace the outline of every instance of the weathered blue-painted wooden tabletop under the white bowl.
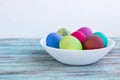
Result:
<instances>
[{"instance_id":1,"label":"weathered blue-painted wooden tabletop under the white bowl","mask_svg":"<svg viewBox=\"0 0 120 80\"><path fill-rule=\"evenodd\" d=\"M40 39L0 39L0 80L120 80L120 38L100 61L69 66L53 59Z\"/></svg>"}]
</instances>

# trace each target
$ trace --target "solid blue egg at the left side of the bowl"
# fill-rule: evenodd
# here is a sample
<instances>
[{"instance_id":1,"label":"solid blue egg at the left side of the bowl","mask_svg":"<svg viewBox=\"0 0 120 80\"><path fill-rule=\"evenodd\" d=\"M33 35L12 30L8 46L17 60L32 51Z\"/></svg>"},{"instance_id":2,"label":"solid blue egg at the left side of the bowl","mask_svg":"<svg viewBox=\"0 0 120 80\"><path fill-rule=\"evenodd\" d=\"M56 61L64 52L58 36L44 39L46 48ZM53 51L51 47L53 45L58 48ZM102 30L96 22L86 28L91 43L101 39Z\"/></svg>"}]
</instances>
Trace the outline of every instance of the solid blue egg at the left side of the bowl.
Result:
<instances>
[{"instance_id":1,"label":"solid blue egg at the left side of the bowl","mask_svg":"<svg viewBox=\"0 0 120 80\"><path fill-rule=\"evenodd\" d=\"M59 42L62 39L62 35L58 33L50 33L46 38L46 45L49 47L59 48Z\"/></svg>"}]
</instances>

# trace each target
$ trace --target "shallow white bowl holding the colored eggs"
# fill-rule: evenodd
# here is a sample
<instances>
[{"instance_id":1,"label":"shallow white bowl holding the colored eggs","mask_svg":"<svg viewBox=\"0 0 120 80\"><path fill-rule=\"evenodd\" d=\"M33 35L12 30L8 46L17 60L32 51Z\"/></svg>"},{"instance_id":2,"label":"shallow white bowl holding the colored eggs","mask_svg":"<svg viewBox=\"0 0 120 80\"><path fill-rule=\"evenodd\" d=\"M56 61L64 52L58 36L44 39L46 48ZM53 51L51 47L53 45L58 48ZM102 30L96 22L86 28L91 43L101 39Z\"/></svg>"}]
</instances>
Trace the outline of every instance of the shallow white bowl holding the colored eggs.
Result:
<instances>
[{"instance_id":1,"label":"shallow white bowl holding the colored eggs","mask_svg":"<svg viewBox=\"0 0 120 80\"><path fill-rule=\"evenodd\" d=\"M61 63L69 65L87 65L103 58L113 48L115 42L109 39L107 47L94 50L64 50L52 48L46 45L45 38L40 40L40 44L53 58Z\"/></svg>"}]
</instances>

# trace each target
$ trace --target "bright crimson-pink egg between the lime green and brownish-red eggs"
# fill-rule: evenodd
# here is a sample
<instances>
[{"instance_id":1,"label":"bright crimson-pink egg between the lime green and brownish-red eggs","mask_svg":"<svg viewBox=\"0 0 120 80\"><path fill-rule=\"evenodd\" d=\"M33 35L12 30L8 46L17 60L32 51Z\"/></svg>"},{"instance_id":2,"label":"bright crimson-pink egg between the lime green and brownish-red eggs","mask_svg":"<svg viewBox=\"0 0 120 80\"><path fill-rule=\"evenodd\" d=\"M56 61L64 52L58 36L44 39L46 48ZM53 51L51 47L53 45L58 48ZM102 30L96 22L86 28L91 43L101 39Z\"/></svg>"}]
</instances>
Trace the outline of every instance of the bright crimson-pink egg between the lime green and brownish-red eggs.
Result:
<instances>
[{"instance_id":1,"label":"bright crimson-pink egg between the lime green and brownish-red eggs","mask_svg":"<svg viewBox=\"0 0 120 80\"><path fill-rule=\"evenodd\" d=\"M81 31L75 31L71 34L72 36L76 37L80 42L84 42L87 38L86 35Z\"/></svg>"}]
</instances>

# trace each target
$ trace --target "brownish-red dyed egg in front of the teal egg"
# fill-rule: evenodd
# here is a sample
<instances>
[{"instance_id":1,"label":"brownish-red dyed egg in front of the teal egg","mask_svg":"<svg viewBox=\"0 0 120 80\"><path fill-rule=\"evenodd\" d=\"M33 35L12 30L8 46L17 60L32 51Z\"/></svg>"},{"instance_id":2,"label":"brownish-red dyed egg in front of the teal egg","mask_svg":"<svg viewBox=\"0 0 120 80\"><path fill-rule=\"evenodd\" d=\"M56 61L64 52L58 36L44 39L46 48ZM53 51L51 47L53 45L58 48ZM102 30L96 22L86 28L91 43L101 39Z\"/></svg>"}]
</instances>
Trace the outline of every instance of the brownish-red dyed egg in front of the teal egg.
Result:
<instances>
[{"instance_id":1,"label":"brownish-red dyed egg in front of the teal egg","mask_svg":"<svg viewBox=\"0 0 120 80\"><path fill-rule=\"evenodd\" d=\"M102 39L96 35L88 37L83 43L84 49L100 49L104 47Z\"/></svg>"}]
</instances>

